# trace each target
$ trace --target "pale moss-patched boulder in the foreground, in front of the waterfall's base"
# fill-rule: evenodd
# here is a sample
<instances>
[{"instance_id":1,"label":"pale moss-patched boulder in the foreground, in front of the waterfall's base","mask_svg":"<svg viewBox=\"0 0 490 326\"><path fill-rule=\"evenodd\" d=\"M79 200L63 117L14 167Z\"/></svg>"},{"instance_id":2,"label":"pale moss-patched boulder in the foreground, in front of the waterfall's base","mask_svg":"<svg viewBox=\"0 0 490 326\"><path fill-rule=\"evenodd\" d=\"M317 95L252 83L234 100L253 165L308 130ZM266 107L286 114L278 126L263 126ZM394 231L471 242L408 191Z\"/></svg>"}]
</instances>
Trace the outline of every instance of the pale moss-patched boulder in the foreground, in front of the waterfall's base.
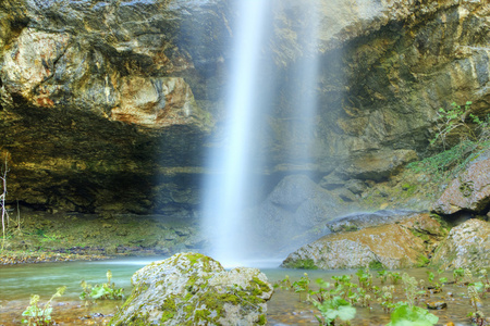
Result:
<instances>
[{"instance_id":1,"label":"pale moss-patched boulder in the foreground, in front of the waterfall's base","mask_svg":"<svg viewBox=\"0 0 490 326\"><path fill-rule=\"evenodd\" d=\"M265 325L272 286L257 268L224 271L199 253L154 262L110 325Z\"/></svg>"}]
</instances>

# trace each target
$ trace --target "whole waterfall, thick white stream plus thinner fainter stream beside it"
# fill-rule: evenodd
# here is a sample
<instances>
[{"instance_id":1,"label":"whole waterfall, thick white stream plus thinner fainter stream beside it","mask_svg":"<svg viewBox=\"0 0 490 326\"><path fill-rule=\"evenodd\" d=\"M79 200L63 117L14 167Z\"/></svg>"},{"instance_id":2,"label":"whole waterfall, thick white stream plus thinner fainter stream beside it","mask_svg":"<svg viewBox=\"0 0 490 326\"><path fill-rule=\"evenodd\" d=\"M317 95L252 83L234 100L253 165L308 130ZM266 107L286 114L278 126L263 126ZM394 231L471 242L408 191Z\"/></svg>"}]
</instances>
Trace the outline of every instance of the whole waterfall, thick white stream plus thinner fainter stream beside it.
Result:
<instances>
[{"instance_id":1,"label":"whole waterfall, thick white stream plus thinner fainter stream beside it","mask_svg":"<svg viewBox=\"0 0 490 326\"><path fill-rule=\"evenodd\" d=\"M246 208L259 192L264 181L257 176L264 173L264 163L268 159L261 156L264 152L256 137L275 97L274 87L268 84L274 77L269 82L264 78L264 71L267 70L265 58L271 55L268 52L268 35L272 28L268 24L272 21L273 2L236 1L238 16L233 28L233 55L224 96L225 126L219 146L210 151L210 173L204 188L203 229L210 241L208 253L225 266L246 265L247 261L255 259L249 252L260 248L257 243L249 243L250 225L247 223ZM301 150L291 150L289 156L292 162L311 165L310 142L315 134L313 125L317 106L315 89L318 61L314 54L317 51L317 24L316 20L311 20L316 16L311 14L314 7L306 5L308 10L303 12L301 4L295 5L302 11L305 24L299 27L298 36L306 40L302 43L303 49L295 64L296 83L291 84L296 89L291 89L287 98L294 113L286 118L290 121L287 128L293 135L290 148Z\"/></svg>"}]
</instances>

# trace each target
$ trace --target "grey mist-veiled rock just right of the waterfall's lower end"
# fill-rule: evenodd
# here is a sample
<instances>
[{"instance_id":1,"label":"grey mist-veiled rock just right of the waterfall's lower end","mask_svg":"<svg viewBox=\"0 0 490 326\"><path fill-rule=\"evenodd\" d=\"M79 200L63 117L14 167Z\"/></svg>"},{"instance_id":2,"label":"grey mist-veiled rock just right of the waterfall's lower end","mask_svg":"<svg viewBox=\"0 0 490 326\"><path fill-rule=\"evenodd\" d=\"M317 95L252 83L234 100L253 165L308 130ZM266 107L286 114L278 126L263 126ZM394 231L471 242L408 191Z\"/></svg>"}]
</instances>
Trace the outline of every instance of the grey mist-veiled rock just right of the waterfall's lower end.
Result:
<instances>
[{"instance_id":1,"label":"grey mist-veiled rock just right of the waterfall's lower end","mask_svg":"<svg viewBox=\"0 0 490 326\"><path fill-rule=\"evenodd\" d=\"M250 236L255 239L252 242L257 247L254 250L258 254L285 254L318 238L318 234L304 233L339 216L345 209L347 203L344 200L309 177L284 177L264 202L247 213L253 225ZM348 209L354 210L355 204Z\"/></svg>"}]
</instances>

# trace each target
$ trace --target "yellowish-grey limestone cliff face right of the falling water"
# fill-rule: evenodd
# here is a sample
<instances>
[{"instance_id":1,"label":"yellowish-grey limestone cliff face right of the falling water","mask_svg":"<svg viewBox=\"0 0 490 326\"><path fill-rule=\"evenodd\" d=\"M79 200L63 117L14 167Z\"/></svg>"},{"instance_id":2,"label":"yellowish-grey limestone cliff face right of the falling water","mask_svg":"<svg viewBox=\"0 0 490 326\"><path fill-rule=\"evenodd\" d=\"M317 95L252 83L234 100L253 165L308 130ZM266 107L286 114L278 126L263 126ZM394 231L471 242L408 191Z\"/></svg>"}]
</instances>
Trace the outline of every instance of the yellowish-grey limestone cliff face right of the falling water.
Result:
<instances>
[{"instance_id":1,"label":"yellowish-grey limestone cliff face right of the falling water","mask_svg":"<svg viewBox=\"0 0 490 326\"><path fill-rule=\"evenodd\" d=\"M348 177L380 180L390 168L393 173L414 159L414 152L427 151L439 108L471 100L475 113L489 113L489 4L323 0L301 15L304 2L282 2L277 61L291 67L309 58L311 49L322 53L317 134L305 131L295 140L313 138L318 171L328 173L335 166ZM307 39L302 26L318 15L319 45L302 43ZM293 73L284 74L294 80ZM285 93L292 88L282 85ZM305 105L281 104L274 114L284 120L291 118L287 112ZM291 160L285 156L291 141L282 141L291 127L272 127L274 159ZM393 156L403 159L393 162ZM356 170L363 163L369 165L366 171Z\"/></svg>"}]
</instances>

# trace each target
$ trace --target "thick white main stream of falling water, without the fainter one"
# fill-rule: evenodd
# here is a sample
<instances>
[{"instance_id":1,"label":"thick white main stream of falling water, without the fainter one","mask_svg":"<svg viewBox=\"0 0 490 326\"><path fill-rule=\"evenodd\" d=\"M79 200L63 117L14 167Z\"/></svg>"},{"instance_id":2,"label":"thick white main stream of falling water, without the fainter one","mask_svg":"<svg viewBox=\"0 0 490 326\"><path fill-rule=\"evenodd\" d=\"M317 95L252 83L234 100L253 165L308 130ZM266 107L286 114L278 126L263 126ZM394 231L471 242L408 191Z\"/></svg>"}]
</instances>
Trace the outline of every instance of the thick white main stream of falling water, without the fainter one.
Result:
<instances>
[{"instance_id":1,"label":"thick white main stream of falling water, without the fainter one","mask_svg":"<svg viewBox=\"0 0 490 326\"><path fill-rule=\"evenodd\" d=\"M240 1L234 30L231 80L226 93L228 125L224 146L211 154L209 166L219 173L208 179L205 228L211 240L210 254L225 265L242 263L246 255L244 203L253 184L257 76L264 46L269 1Z\"/></svg>"}]
</instances>

